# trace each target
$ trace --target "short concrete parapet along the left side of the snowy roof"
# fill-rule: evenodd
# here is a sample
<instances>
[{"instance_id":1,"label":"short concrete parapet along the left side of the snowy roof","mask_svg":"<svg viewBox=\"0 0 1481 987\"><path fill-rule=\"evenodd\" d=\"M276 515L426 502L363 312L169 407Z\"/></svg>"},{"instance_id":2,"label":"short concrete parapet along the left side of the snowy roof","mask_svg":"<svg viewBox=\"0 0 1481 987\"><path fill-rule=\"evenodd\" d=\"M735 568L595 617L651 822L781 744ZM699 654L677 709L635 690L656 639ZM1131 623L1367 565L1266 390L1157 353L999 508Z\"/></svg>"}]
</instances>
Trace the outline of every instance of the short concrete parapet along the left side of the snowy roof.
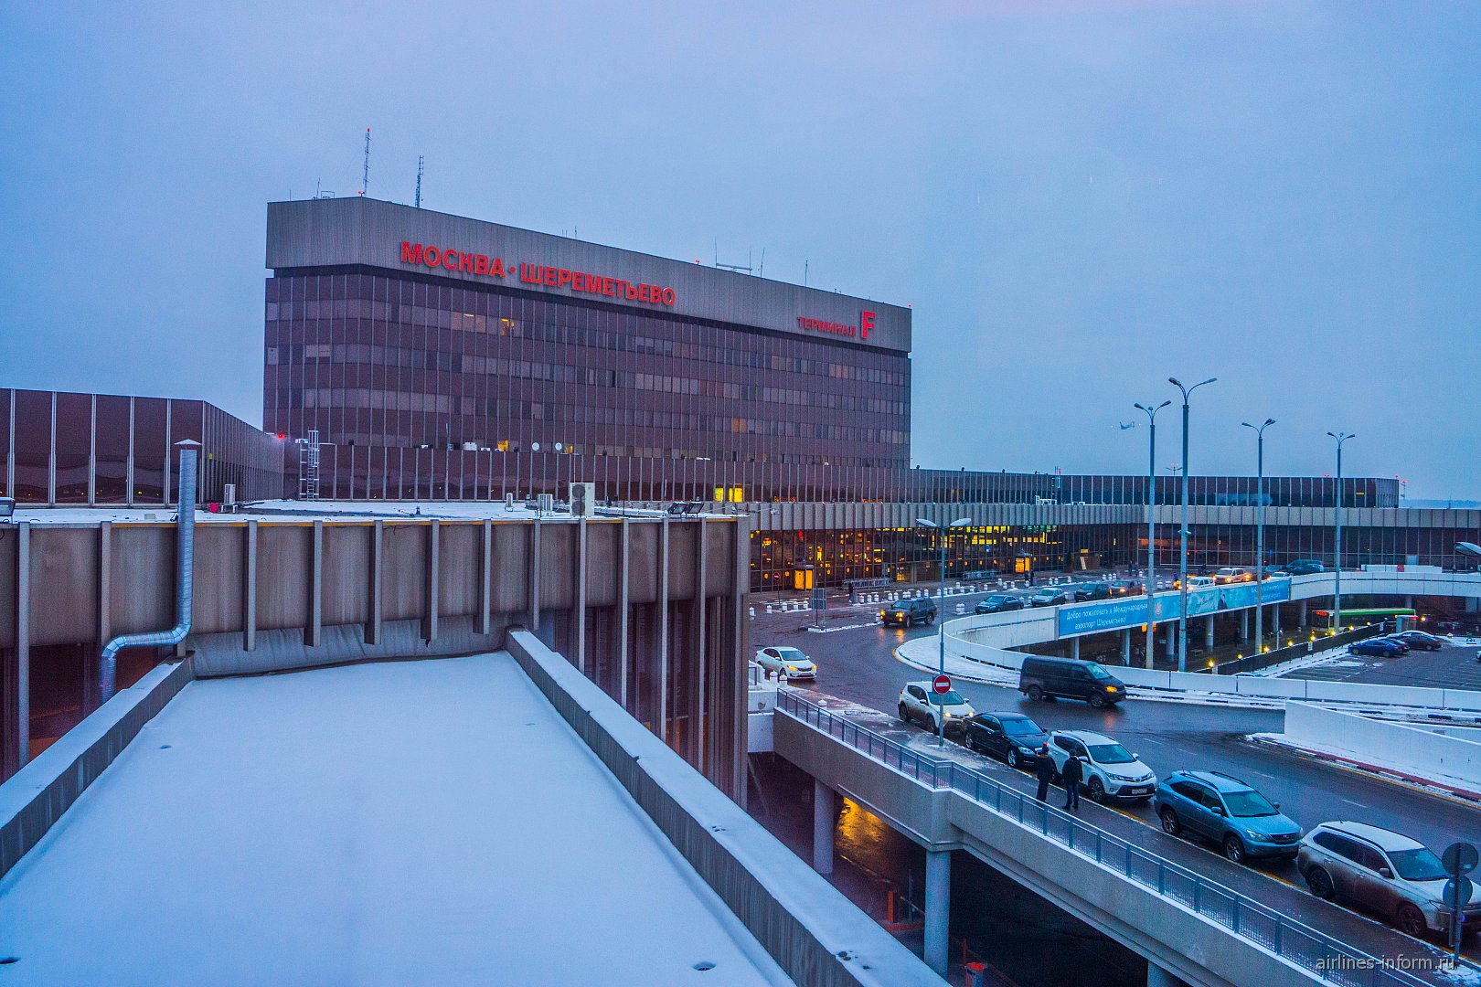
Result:
<instances>
[{"instance_id":1,"label":"short concrete parapet along the left side of the snowy roof","mask_svg":"<svg viewBox=\"0 0 1481 987\"><path fill-rule=\"evenodd\" d=\"M193 678L190 660L156 666L0 784L0 877ZM118 852L127 852L120 839Z\"/></svg>"}]
</instances>

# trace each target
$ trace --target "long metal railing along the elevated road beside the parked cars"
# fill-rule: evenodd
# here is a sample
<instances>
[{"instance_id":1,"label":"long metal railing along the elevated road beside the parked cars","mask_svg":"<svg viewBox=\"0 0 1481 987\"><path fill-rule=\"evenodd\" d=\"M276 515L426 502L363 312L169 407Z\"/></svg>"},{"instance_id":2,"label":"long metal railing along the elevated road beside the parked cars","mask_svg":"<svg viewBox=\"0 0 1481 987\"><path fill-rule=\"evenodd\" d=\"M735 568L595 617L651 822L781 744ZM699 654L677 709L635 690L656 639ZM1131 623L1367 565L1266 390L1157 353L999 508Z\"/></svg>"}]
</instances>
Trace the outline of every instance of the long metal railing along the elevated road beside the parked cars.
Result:
<instances>
[{"instance_id":1,"label":"long metal railing along the elevated road beside the parked cars","mask_svg":"<svg viewBox=\"0 0 1481 987\"><path fill-rule=\"evenodd\" d=\"M980 771L937 761L890 740L868 727L826 710L791 690L780 690L776 709L835 737L902 774L933 789L958 792L1019 826L1094 860L1143 888L1192 909L1235 935L1248 940L1317 977L1342 987L1416 987L1425 981L1386 966L1361 950L1283 916L1254 898L1225 888L1170 860L1129 843L1103 829L1046 805L989 778Z\"/></svg>"}]
</instances>

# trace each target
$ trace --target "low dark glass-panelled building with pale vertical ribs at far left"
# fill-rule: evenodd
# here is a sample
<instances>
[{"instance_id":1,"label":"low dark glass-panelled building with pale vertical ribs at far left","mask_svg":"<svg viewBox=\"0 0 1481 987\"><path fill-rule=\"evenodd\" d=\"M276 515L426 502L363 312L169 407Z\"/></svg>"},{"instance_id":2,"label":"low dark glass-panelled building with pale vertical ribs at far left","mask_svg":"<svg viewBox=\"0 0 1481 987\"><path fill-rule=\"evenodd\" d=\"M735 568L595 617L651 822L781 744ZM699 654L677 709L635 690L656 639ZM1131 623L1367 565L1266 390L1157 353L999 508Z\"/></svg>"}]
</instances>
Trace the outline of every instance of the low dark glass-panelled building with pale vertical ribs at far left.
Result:
<instances>
[{"instance_id":1,"label":"low dark glass-panelled building with pale vertical ribs at far left","mask_svg":"<svg viewBox=\"0 0 1481 987\"><path fill-rule=\"evenodd\" d=\"M179 488L175 444L201 444L200 500L284 494L284 441L204 401L65 391L0 391L0 496L21 505L166 505Z\"/></svg>"}]
</instances>

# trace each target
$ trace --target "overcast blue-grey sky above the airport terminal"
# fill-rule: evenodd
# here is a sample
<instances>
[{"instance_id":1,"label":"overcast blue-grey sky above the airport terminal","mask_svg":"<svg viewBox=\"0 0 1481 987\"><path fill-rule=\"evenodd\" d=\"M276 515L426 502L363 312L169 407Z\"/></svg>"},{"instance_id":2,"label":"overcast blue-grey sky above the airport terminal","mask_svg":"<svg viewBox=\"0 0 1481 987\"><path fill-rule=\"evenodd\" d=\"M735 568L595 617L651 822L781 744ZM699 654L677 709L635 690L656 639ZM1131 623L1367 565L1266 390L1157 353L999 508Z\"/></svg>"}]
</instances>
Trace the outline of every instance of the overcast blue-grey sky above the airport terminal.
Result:
<instances>
[{"instance_id":1,"label":"overcast blue-grey sky above the airport terminal","mask_svg":"<svg viewBox=\"0 0 1481 987\"><path fill-rule=\"evenodd\" d=\"M926 466L1481 496L1481 4L9 3L0 385L262 416L265 203L908 303ZM1176 463L1177 422L1158 429Z\"/></svg>"}]
</instances>

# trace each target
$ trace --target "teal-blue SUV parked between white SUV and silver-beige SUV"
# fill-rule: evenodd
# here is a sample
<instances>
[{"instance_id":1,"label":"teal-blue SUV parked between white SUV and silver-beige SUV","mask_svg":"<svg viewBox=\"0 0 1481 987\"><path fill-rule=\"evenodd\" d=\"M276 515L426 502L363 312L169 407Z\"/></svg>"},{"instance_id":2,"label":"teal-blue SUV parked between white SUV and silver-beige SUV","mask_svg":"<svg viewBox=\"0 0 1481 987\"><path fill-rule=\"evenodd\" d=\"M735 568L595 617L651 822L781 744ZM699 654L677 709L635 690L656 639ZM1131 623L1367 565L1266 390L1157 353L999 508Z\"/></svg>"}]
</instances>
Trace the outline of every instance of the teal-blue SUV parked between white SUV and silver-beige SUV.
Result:
<instances>
[{"instance_id":1,"label":"teal-blue SUV parked between white SUV and silver-beige SUV","mask_svg":"<svg viewBox=\"0 0 1481 987\"><path fill-rule=\"evenodd\" d=\"M1234 863L1274 857L1291 860L1300 826L1251 786L1219 771L1173 771L1152 802L1163 832L1213 841Z\"/></svg>"}]
</instances>

